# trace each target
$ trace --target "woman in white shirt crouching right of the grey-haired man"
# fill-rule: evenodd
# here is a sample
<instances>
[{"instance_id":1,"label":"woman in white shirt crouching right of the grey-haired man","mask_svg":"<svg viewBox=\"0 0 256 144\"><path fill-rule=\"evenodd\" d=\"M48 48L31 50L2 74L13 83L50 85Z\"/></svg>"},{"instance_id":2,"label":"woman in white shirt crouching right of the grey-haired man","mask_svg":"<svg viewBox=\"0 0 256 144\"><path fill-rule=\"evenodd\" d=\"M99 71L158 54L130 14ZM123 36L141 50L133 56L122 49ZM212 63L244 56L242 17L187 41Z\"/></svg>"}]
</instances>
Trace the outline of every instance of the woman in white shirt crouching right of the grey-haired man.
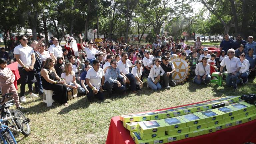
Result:
<instances>
[{"instance_id":1,"label":"woman in white shirt crouching right of the grey-haired man","mask_svg":"<svg viewBox=\"0 0 256 144\"><path fill-rule=\"evenodd\" d=\"M242 63L242 67L239 70L240 79L237 80L237 83L241 83L243 85L244 83L248 82L248 76L250 74L249 72L250 63L247 59L245 59L245 53L240 54L240 61Z\"/></svg>"}]
</instances>

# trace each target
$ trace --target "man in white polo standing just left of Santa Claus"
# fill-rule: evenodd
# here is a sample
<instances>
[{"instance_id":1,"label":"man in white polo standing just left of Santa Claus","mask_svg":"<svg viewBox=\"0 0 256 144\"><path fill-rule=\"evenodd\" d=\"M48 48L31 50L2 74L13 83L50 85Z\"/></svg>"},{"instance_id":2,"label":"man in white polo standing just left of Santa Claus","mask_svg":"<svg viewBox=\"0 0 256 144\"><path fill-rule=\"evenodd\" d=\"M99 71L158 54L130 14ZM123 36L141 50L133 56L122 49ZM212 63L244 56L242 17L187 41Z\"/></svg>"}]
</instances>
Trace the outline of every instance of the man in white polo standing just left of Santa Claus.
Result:
<instances>
[{"instance_id":1,"label":"man in white polo standing just left of Santa Claus","mask_svg":"<svg viewBox=\"0 0 256 144\"><path fill-rule=\"evenodd\" d=\"M59 41L57 38L53 38L53 44L49 47L49 52L51 58L57 62L57 57L62 57L64 59L62 47L59 45Z\"/></svg>"}]
</instances>

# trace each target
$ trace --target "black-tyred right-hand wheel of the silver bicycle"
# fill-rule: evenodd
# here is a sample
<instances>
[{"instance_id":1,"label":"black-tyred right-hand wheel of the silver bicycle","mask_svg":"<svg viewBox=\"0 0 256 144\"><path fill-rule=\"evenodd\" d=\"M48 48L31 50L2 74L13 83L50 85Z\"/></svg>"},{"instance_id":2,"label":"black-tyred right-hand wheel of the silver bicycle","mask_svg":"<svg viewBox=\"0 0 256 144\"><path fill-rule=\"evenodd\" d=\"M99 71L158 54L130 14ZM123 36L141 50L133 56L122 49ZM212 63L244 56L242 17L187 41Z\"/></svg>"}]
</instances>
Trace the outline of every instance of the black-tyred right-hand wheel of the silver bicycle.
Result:
<instances>
[{"instance_id":1,"label":"black-tyred right-hand wheel of the silver bicycle","mask_svg":"<svg viewBox=\"0 0 256 144\"><path fill-rule=\"evenodd\" d=\"M29 124L23 124L23 120L27 119L26 116L20 111L20 110L14 110L13 111L14 113L14 118L13 120L15 121L17 127L19 129L21 129L21 133L24 135L24 136L28 136L30 134L30 126ZM22 127L23 125L23 127Z\"/></svg>"}]
</instances>

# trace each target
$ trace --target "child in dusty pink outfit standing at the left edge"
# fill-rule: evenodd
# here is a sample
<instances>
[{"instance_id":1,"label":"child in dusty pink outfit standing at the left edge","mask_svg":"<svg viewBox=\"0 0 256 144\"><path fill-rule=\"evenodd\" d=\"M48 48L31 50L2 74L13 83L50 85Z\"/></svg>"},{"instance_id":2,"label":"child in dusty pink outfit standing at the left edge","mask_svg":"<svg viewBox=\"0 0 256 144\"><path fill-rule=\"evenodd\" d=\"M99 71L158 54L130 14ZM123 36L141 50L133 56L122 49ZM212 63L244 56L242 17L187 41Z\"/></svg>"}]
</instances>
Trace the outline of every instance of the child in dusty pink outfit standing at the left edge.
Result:
<instances>
[{"instance_id":1,"label":"child in dusty pink outfit standing at the left edge","mask_svg":"<svg viewBox=\"0 0 256 144\"><path fill-rule=\"evenodd\" d=\"M24 107L20 105L19 96L13 84L15 75L10 68L6 67L6 65L7 61L5 59L0 59L0 87L2 96L6 93L13 93L12 97L14 98L16 109L24 109ZM5 100L7 101L7 99Z\"/></svg>"}]
</instances>

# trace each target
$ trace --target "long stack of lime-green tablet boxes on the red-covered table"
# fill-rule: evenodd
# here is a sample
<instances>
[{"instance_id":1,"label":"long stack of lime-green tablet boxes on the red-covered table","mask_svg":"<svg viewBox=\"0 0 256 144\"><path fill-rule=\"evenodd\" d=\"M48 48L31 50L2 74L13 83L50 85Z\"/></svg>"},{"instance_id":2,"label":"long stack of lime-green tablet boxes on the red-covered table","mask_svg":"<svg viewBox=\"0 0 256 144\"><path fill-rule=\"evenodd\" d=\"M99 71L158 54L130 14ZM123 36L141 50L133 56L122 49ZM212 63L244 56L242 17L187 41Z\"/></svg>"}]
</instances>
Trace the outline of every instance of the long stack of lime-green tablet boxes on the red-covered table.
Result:
<instances>
[{"instance_id":1,"label":"long stack of lime-green tablet boxes on the red-covered table","mask_svg":"<svg viewBox=\"0 0 256 144\"><path fill-rule=\"evenodd\" d=\"M211 109L223 101L229 106ZM196 137L256 119L254 105L241 96L168 109L120 116L136 144L158 144Z\"/></svg>"}]
</instances>

